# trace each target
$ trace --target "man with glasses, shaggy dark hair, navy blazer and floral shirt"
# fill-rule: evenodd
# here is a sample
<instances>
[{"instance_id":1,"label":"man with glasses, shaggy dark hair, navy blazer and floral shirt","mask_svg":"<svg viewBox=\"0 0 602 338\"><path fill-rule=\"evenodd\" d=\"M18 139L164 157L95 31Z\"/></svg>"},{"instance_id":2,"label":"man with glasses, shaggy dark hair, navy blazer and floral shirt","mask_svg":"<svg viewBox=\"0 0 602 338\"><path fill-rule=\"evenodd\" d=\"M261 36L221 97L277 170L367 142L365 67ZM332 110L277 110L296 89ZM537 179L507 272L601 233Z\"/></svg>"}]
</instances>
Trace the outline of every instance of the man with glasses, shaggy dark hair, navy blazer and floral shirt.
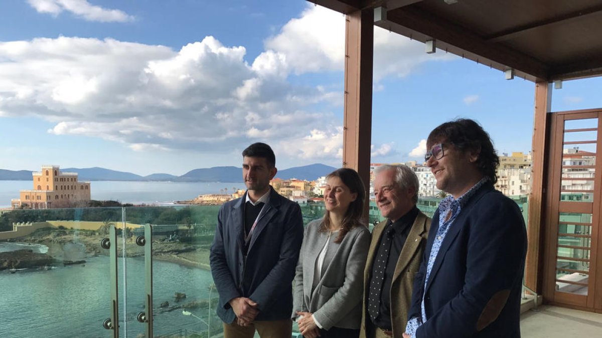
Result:
<instances>
[{"instance_id":1,"label":"man with glasses, shaggy dark hair, navy blazer and floral shirt","mask_svg":"<svg viewBox=\"0 0 602 338\"><path fill-rule=\"evenodd\" d=\"M473 120L441 124L426 164L450 194L433 215L404 338L518 338L527 248L523 215L494 189L499 159Z\"/></svg>"}]
</instances>

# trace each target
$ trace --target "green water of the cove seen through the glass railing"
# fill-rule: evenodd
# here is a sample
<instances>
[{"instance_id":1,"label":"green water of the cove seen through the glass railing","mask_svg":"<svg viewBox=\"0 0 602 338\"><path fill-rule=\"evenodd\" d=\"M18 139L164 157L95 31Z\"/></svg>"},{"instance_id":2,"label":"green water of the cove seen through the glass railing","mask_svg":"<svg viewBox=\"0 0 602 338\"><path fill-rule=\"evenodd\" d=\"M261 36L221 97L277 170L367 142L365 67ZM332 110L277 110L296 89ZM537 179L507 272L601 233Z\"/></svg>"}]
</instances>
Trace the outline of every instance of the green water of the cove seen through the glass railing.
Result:
<instances>
[{"instance_id":1,"label":"green water of the cove seen through the glass railing","mask_svg":"<svg viewBox=\"0 0 602 338\"><path fill-rule=\"evenodd\" d=\"M119 278L123 278L123 266L119 264ZM120 336L136 337L144 333L144 325L135 319L144 310L144 260L128 258L126 268L125 316L122 285L119 289ZM110 317L108 269L108 257L94 257L85 266L28 269L15 274L0 271L0 337L111 337L112 331L102 328L102 321ZM167 262L154 262L153 269L155 335L178 330L206 332L206 325L199 319L182 315L181 309L161 313L158 305L163 301L177 304L175 292L187 294L182 303L207 300L211 273ZM217 297L215 290L212 297ZM208 316L206 308L190 312L205 320ZM221 322L212 316L211 325Z\"/></svg>"}]
</instances>

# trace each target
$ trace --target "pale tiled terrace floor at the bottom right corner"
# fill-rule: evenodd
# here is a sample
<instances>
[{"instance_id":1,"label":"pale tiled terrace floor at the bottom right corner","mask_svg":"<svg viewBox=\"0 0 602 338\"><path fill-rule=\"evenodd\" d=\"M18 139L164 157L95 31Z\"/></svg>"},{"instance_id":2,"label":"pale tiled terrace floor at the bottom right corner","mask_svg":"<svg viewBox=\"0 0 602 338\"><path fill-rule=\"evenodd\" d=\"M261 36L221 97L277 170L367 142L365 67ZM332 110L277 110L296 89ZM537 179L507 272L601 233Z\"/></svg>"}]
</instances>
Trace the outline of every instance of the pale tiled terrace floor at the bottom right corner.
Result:
<instances>
[{"instance_id":1,"label":"pale tiled terrace floor at the bottom right corner","mask_svg":"<svg viewBox=\"0 0 602 338\"><path fill-rule=\"evenodd\" d=\"M540 306L521 315L523 338L601 338L602 314Z\"/></svg>"}]
</instances>

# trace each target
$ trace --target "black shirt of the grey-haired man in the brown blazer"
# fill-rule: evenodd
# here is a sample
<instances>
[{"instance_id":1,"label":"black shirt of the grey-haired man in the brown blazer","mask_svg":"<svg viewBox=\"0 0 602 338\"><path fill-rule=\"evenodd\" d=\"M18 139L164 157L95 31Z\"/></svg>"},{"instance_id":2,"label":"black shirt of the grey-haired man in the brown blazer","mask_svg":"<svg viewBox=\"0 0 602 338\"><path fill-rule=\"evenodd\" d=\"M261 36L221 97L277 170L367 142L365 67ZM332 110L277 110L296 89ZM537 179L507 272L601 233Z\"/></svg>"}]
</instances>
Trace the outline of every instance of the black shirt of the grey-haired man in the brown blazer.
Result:
<instances>
[{"instance_id":1,"label":"black shirt of the grey-haired man in the brown blazer","mask_svg":"<svg viewBox=\"0 0 602 338\"><path fill-rule=\"evenodd\" d=\"M380 289L379 315L376 317L376 321L373 321L374 325L385 330L391 330L391 281L393 281L393 274L395 272L397 260L399 260L399 254L402 253L403 245L405 244L406 239L408 239L408 234L417 216L418 208L414 206L414 208L409 210L407 214L403 215L395 223L391 223L391 220L389 220L380 237L379 245L377 246L379 250L376 255L374 255L375 259L380 256L380 251L383 251L383 245L381 245L381 243L386 236L386 230L388 230L389 227L393 227L394 233L391 242L391 251L389 251L389 257L386 260L385 276L382 289ZM374 269L377 268L378 266L376 264L372 265L370 276L374 275Z\"/></svg>"}]
</instances>

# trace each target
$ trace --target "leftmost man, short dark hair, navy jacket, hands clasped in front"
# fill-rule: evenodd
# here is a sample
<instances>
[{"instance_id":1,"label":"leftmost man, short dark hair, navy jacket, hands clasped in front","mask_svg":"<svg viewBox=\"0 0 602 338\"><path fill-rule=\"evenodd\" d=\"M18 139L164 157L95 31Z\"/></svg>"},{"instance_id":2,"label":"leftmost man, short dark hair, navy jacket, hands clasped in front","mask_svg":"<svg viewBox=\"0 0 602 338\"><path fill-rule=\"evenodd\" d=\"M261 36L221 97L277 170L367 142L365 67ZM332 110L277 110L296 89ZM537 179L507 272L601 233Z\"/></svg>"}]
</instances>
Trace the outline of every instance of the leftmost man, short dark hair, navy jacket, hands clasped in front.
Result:
<instances>
[{"instance_id":1,"label":"leftmost man, short dark hair, navy jacket, hands clasped in front","mask_svg":"<svg viewBox=\"0 0 602 338\"><path fill-rule=\"evenodd\" d=\"M265 143L243 151L243 197L223 204L211 245L225 338L291 337L292 283L303 241L299 204L278 194L274 152Z\"/></svg>"}]
</instances>

